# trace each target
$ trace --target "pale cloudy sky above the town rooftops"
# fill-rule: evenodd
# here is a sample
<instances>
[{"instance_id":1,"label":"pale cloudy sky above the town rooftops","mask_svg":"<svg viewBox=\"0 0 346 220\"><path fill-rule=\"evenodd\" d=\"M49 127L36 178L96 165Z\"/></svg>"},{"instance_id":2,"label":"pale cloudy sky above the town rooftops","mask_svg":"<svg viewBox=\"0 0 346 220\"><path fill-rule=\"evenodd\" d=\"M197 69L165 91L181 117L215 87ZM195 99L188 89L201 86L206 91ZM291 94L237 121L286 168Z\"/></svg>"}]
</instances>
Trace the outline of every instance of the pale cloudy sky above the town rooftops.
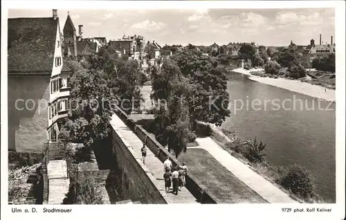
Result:
<instances>
[{"instance_id":1,"label":"pale cloudy sky above the town rooftops","mask_svg":"<svg viewBox=\"0 0 346 220\"><path fill-rule=\"evenodd\" d=\"M158 44L219 45L255 42L264 46L308 45L310 39L335 42L334 8L282 9L59 9L61 30L69 11L73 24L83 25L83 37L118 39L141 35ZM52 10L8 10L8 17L52 17Z\"/></svg>"}]
</instances>

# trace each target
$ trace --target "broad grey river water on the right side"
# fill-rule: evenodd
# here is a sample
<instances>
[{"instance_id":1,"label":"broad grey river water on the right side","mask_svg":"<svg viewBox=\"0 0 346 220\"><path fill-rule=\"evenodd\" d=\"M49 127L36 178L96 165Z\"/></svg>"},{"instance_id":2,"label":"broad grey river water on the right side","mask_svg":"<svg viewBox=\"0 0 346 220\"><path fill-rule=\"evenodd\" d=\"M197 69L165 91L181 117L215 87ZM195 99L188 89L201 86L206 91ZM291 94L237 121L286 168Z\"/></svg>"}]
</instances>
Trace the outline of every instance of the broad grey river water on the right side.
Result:
<instances>
[{"instance_id":1,"label":"broad grey river water on the right side","mask_svg":"<svg viewBox=\"0 0 346 220\"><path fill-rule=\"evenodd\" d=\"M242 139L263 140L272 165L309 169L325 203L336 201L335 103L228 73L231 116L221 125Z\"/></svg>"}]
</instances>

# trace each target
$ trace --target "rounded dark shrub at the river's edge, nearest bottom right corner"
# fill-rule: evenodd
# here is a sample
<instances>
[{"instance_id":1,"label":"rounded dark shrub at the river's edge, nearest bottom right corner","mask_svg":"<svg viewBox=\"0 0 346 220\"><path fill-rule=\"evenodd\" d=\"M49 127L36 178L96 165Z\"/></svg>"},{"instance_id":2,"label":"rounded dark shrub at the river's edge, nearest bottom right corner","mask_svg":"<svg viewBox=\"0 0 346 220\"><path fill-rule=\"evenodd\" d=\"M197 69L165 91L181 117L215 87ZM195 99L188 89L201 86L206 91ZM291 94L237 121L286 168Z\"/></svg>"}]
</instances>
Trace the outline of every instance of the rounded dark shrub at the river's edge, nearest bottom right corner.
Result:
<instances>
[{"instance_id":1,"label":"rounded dark shrub at the river's edge, nearest bottom right corner","mask_svg":"<svg viewBox=\"0 0 346 220\"><path fill-rule=\"evenodd\" d=\"M291 190L293 194L309 199L314 196L314 185L312 176L307 169L299 165L293 165L289 171L281 179L280 184L287 190Z\"/></svg>"}]
</instances>

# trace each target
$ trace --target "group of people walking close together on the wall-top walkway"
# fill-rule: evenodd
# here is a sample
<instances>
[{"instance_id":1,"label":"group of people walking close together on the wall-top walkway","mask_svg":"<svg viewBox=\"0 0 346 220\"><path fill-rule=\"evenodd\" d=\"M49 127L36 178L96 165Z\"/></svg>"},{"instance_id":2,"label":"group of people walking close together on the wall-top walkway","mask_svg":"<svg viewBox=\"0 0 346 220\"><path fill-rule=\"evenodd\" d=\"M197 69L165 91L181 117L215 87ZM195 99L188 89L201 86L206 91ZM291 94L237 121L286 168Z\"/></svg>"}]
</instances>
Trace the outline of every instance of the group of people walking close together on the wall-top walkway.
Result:
<instances>
[{"instance_id":1,"label":"group of people walking close together on the wall-top walkway","mask_svg":"<svg viewBox=\"0 0 346 220\"><path fill-rule=\"evenodd\" d=\"M173 172L172 168L172 162L167 156L167 159L163 163L163 170L165 172L165 174L163 174L163 178L165 179L165 189L166 192L170 192L170 187L173 185L173 192L177 195L178 191L181 191L181 187L186 185L185 175L188 174L188 167L183 163L182 166L179 165L174 167Z\"/></svg>"}]
</instances>

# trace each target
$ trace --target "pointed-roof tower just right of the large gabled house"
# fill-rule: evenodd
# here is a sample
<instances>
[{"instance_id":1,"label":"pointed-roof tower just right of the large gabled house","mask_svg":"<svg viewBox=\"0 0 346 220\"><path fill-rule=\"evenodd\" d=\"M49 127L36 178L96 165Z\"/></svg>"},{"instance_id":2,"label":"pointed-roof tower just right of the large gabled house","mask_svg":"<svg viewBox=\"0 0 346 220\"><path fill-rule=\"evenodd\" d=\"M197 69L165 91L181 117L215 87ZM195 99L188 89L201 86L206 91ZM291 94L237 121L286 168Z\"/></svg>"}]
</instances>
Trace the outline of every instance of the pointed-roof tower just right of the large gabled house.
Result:
<instances>
[{"instance_id":1,"label":"pointed-roof tower just right of the large gabled house","mask_svg":"<svg viewBox=\"0 0 346 220\"><path fill-rule=\"evenodd\" d=\"M77 57L77 35L75 33L75 26L67 12L67 18L64 26L64 55Z\"/></svg>"}]
</instances>

